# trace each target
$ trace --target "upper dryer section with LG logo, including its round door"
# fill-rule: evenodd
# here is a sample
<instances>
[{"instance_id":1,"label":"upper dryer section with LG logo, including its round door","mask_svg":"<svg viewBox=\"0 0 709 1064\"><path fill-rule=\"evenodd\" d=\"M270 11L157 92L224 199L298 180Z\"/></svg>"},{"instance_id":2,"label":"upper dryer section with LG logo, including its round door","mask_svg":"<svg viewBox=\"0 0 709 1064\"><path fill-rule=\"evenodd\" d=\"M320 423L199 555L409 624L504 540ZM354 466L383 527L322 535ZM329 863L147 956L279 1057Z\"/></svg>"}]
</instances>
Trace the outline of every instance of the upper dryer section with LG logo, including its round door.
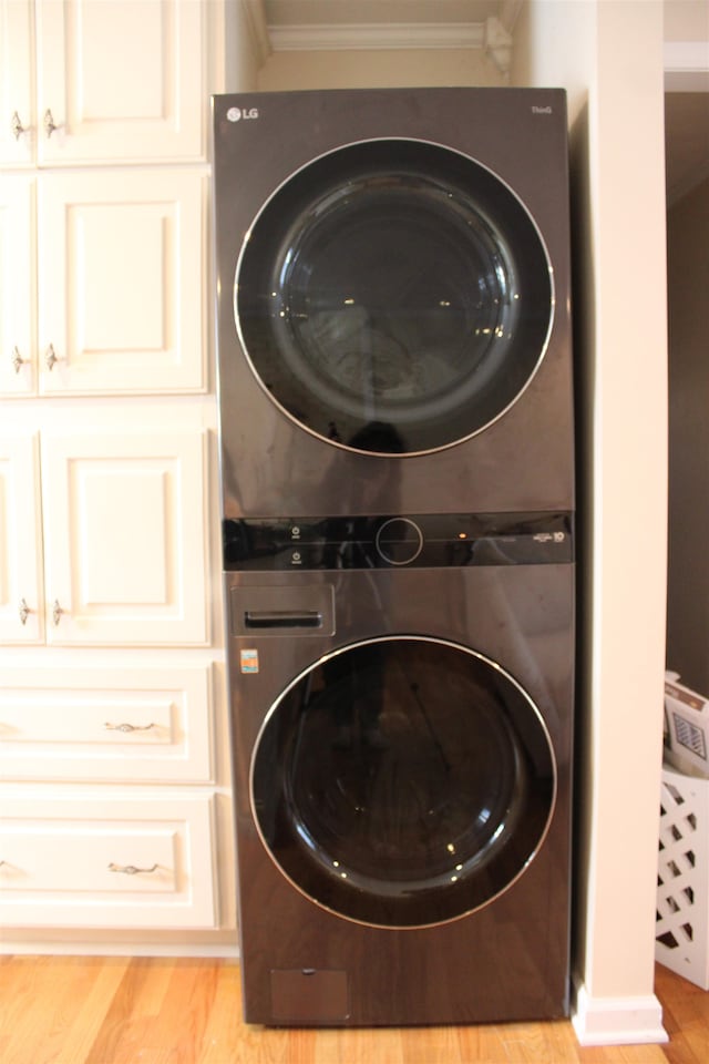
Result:
<instances>
[{"instance_id":1,"label":"upper dryer section with LG logo, including its round door","mask_svg":"<svg viewBox=\"0 0 709 1064\"><path fill-rule=\"evenodd\" d=\"M234 94L214 139L225 516L572 510L563 91Z\"/></svg>"}]
</instances>

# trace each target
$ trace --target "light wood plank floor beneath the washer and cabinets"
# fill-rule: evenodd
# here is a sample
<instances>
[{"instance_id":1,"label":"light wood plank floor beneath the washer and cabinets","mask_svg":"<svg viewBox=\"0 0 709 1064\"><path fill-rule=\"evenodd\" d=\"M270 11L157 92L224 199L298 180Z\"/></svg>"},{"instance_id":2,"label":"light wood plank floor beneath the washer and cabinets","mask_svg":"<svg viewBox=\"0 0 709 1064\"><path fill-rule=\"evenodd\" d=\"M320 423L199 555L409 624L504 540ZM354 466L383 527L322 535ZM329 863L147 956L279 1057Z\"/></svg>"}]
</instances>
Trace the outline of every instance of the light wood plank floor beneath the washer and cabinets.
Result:
<instances>
[{"instance_id":1,"label":"light wood plank floor beneath the washer and cabinets","mask_svg":"<svg viewBox=\"0 0 709 1064\"><path fill-rule=\"evenodd\" d=\"M281 1031L240 1021L227 961L0 959L2 1064L707 1064L709 993L657 969L671 1042L579 1048L571 1023Z\"/></svg>"}]
</instances>

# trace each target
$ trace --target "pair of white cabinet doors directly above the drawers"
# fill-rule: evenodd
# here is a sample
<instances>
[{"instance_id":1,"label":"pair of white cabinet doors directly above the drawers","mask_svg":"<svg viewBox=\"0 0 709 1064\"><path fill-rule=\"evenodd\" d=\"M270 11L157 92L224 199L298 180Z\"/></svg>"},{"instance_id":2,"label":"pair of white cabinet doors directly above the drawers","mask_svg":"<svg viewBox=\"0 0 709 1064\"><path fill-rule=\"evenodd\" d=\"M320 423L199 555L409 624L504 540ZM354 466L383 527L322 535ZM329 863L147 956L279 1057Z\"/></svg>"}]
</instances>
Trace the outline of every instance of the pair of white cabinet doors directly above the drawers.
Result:
<instances>
[{"instance_id":1,"label":"pair of white cabinet doors directly above the drawers","mask_svg":"<svg viewBox=\"0 0 709 1064\"><path fill-rule=\"evenodd\" d=\"M199 430L3 438L2 641L205 645L205 451Z\"/></svg>"}]
</instances>

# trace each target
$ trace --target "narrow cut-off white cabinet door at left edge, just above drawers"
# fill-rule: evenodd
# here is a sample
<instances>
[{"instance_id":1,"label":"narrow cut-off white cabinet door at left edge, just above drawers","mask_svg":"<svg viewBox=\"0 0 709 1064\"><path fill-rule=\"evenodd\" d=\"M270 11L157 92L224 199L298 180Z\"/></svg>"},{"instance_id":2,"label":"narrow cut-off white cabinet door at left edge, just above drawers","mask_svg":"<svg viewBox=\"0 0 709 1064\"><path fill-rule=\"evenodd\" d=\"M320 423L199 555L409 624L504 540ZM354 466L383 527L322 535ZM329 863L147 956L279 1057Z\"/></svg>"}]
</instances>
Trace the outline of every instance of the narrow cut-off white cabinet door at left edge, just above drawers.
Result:
<instances>
[{"instance_id":1,"label":"narrow cut-off white cabinet door at left edge, just above drawers","mask_svg":"<svg viewBox=\"0 0 709 1064\"><path fill-rule=\"evenodd\" d=\"M0 643L42 643L39 444L0 437Z\"/></svg>"}]
</instances>

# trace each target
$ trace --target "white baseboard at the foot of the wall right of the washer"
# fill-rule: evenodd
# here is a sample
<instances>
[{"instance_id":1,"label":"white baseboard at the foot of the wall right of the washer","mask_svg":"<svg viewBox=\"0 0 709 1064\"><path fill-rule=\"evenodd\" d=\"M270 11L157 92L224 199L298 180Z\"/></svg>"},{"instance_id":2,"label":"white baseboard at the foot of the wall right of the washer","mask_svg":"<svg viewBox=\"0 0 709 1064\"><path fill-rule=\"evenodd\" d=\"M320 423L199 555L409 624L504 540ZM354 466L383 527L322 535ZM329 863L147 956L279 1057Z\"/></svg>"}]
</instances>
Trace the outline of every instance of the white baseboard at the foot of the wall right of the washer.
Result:
<instances>
[{"instance_id":1,"label":"white baseboard at the foot of the wall right of the washer","mask_svg":"<svg viewBox=\"0 0 709 1064\"><path fill-rule=\"evenodd\" d=\"M579 1045L645 1045L668 1042L662 1006L655 994L592 998L576 988L572 1023Z\"/></svg>"}]
</instances>

